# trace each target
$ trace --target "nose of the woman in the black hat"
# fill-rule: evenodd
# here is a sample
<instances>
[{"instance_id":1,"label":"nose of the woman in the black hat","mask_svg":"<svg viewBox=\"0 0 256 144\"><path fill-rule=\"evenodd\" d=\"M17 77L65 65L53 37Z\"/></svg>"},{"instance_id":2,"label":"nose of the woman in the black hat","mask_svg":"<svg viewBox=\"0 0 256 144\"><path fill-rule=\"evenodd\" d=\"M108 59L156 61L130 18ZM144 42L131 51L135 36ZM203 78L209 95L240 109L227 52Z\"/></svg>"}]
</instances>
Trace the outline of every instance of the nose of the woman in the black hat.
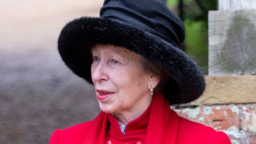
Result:
<instances>
[{"instance_id":1,"label":"nose of the woman in the black hat","mask_svg":"<svg viewBox=\"0 0 256 144\"><path fill-rule=\"evenodd\" d=\"M96 82L101 82L103 80L108 80L108 66L103 62L99 62L98 64L92 64L91 73L92 73L92 82L95 84Z\"/></svg>"}]
</instances>

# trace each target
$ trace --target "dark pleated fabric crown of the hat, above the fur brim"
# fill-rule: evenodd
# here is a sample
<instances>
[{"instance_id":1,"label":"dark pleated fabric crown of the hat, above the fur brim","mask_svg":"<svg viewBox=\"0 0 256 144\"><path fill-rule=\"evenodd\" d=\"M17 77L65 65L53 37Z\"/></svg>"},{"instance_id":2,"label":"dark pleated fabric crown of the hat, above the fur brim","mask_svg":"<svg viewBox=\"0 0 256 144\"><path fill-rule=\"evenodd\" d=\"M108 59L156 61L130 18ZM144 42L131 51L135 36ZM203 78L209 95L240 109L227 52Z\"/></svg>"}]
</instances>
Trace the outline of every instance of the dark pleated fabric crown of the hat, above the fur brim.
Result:
<instances>
[{"instance_id":1,"label":"dark pleated fabric crown of the hat, above the fur brim","mask_svg":"<svg viewBox=\"0 0 256 144\"><path fill-rule=\"evenodd\" d=\"M142 28L180 47L185 38L185 28L159 0L105 0L100 18Z\"/></svg>"}]
</instances>

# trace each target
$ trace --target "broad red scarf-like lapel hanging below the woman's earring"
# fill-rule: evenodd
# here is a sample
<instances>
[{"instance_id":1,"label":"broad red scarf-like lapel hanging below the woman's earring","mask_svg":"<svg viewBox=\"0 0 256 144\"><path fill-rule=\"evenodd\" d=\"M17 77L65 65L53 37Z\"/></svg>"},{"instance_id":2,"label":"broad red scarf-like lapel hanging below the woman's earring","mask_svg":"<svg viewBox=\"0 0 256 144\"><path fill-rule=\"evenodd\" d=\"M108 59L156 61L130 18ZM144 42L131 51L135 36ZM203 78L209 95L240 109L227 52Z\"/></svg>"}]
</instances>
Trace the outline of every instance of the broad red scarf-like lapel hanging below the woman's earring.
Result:
<instances>
[{"instance_id":1,"label":"broad red scarf-like lapel hanging below the woman's earring","mask_svg":"<svg viewBox=\"0 0 256 144\"><path fill-rule=\"evenodd\" d=\"M176 144L178 136L178 115L170 110L170 104L158 92L152 100L146 144Z\"/></svg>"}]
</instances>

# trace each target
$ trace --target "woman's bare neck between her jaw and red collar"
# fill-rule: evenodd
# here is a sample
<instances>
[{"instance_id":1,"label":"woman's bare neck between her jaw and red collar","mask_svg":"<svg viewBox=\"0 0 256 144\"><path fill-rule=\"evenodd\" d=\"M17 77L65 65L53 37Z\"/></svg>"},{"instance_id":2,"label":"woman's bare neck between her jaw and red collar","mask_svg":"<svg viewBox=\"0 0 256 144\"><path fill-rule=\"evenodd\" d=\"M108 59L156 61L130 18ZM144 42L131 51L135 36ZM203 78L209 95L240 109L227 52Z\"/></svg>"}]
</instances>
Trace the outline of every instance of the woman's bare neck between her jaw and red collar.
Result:
<instances>
[{"instance_id":1,"label":"woman's bare neck between her jaw and red collar","mask_svg":"<svg viewBox=\"0 0 256 144\"><path fill-rule=\"evenodd\" d=\"M144 106L134 106L134 110L132 112L122 112L122 113L114 113L114 116L122 122L122 124L127 125L132 120L140 117L150 106L152 102L152 96L147 100Z\"/></svg>"}]
</instances>

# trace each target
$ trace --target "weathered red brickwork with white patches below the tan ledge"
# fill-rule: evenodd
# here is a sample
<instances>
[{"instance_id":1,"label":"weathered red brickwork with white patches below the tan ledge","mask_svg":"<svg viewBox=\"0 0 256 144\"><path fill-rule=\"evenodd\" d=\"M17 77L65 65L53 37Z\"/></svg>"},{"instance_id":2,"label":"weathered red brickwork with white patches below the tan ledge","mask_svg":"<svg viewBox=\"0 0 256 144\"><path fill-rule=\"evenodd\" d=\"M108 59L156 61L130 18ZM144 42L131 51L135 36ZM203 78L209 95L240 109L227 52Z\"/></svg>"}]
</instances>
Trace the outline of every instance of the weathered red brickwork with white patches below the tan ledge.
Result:
<instances>
[{"instance_id":1,"label":"weathered red brickwork with white patches below the tan ledge","mask_svg":"<svg viewBox=\"0 0 256 144\"><path fill-rule=\"evenodd\" d=\"M172 106L179 116L228 134L232 144L256 144L256 104Z\"/></svg>"}]
</instances>

